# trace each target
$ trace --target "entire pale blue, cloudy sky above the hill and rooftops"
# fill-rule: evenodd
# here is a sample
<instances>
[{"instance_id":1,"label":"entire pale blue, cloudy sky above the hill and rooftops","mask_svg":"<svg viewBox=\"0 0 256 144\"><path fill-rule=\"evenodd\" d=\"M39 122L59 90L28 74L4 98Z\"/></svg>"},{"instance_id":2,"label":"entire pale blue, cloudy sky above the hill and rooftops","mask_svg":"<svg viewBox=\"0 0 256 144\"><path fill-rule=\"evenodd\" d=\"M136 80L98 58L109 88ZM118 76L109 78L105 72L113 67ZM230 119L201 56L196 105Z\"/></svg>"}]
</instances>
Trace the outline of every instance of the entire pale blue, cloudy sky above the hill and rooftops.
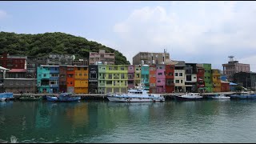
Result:
<instances>
[{"instance_id":1,"label":"entire pale blue, cloudy sky above the hill and rooftops","mask_svg":"<svg viewBox=\"0 0 256 144\"><path fill-rule=\"evenodd\" d=\"M139 52L171 60L222 64L234 60L256 72L256 2L23 1L0 2L0 31L63 32L118 50L132 64Z\"/></svg>"}]
</instances>

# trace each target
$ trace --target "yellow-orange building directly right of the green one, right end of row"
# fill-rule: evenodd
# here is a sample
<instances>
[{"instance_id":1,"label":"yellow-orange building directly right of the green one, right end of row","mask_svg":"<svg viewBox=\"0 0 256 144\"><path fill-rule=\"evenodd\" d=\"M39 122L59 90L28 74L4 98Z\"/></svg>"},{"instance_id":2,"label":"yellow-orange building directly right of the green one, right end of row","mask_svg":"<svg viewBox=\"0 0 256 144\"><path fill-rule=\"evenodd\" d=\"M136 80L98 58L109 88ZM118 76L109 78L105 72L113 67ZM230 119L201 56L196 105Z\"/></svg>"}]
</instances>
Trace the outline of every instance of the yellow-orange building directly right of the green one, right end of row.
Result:
<instances>
[{"instance_id":1,"label":"yellow-orange building directly right of the green one, right end of row","mask_svg":"<svg viewBox=\"0 0 256 144\"><path fill-rule=\"evenodd\" d=\"M212 78L213 78L214 92L221 92L222 82L221 82L220 70L212 69L211 74L212 74Z\"/></svg>"}]
</instances>

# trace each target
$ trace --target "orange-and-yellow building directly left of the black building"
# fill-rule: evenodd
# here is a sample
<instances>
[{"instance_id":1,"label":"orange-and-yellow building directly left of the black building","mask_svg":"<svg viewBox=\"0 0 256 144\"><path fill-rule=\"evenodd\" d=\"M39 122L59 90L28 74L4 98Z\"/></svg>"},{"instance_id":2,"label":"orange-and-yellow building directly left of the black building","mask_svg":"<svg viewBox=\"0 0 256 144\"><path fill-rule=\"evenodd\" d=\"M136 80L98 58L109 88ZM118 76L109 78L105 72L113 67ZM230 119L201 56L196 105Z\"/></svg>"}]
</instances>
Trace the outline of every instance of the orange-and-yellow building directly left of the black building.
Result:
<instances>
[{"instance_id":1,"label":"orange-and-yellow building directly left of the black building","mask_svg":"<svg viewBox=\"0 0 256 144\"><path fill-rule=\"evenodd\" d=\"M74 93L88 94L88 66L74 66Z\"/></svg>"}]
</instances>

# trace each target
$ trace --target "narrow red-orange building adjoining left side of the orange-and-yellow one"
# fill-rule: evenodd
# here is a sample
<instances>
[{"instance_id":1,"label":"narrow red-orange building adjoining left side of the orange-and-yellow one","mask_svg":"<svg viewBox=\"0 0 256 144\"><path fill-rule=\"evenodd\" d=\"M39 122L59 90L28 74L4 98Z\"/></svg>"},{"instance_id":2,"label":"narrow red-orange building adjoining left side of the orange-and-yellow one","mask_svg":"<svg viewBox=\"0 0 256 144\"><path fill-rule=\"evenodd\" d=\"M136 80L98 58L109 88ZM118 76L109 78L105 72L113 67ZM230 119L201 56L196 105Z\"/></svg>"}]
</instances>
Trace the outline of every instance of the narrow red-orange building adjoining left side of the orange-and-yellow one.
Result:
<instances>
[{"instance_id":1,"label":"narrow red-orange building adjoining left side of the orange-and-yellow one","mask_svg":"<svg viewBox=\"0 0 256 144\"><path fill-rule=\"evenodd\" d=\"M74 66L66 66L66 90L74 93Z\"/></svg>"}]
</instances>

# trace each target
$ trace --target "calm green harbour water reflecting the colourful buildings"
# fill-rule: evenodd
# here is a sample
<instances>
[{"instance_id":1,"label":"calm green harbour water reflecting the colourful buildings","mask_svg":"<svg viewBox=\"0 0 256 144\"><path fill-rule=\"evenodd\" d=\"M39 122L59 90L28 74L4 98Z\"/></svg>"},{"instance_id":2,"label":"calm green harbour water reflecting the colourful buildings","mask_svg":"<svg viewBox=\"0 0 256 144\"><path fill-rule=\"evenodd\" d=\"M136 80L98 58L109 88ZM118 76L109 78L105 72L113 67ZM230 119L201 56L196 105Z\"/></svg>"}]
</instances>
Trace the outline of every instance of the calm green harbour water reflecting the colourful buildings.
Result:
<instances>
[{"instance_id":1,"label":"calm green harbour water reflecting the colourful buildings","mask_svg":"<svg viewBox=\"0 0 256 144\"><path fill-rule=\"evenodd\" d=\"M0 102L10 142L256 142L256 100Z\"/></svg>"}]
</instances>

